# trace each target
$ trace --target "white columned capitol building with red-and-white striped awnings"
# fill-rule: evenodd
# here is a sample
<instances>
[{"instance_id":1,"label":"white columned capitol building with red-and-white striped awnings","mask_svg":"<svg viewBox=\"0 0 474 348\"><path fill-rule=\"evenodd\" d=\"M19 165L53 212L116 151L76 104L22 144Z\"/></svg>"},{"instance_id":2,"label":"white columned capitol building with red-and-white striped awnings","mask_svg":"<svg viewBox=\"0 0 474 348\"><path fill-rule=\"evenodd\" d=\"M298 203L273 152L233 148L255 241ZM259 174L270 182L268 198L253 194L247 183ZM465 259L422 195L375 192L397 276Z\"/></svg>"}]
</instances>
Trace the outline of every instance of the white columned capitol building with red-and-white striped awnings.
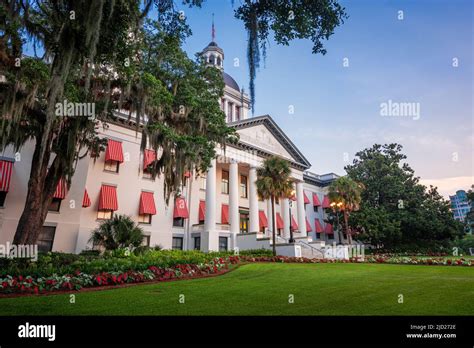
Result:
<instances>
[{"instance_id":1,"label":"white columned capitol building with red-and-white striped awnings","mask_svg":"<svg viewBox=\"0 0 474 348\"><path fill-rule=\"evenodd\" d=\"M207 174L189 175L181 196L167 205L162 179L152 180L146 171L156 158L154 152L140 150L141 136L134 124L117 112L107 129L100 128L100 135L108 139L106 152L96 161L90 157L79 161L68 192L58 187L40 234L40 250L77 253L91 248L92 230L113 214L129 215L145 231L144 243L165 249L270 248L272 219L279 246L287 245L290 228L306 251L340 242L332 226L325 224L323 209L329 207L327 186L337 175L309 172L311 164L269 115L249 117L250 99L224 72L224 52L214 41L202 55L222 70L221 108L240 141L228 144L225 153L218 148ZM0 243L13 240L25 204L32 154L33 143L27 143L21 160L15 161L12 151L0 156ZM277 201L275 216L255 186L256 168L272 155L288 160L296 191L294 199Z\"/></svg>"}]
</instances>

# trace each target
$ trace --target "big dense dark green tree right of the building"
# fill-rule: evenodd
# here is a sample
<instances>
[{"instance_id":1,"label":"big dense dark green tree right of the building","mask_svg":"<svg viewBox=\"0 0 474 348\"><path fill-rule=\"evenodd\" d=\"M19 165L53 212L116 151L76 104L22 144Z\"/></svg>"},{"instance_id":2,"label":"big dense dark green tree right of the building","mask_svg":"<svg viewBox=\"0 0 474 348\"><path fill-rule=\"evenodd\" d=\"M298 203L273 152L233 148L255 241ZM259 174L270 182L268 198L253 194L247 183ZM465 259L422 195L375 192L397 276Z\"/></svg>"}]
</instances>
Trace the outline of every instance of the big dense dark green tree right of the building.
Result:
<instances>
[{"instance_id":1,"label":"big dense dark green tree right of the building","mask_svg":"<svg viewBox=\"0 0 474 348\"><path fill-rule=\"evenodd\" d=\"M399 144L375 144L356 153L345 170L365 189L349 224L362 232L361 240L384 248L446 247L462 226L449 202L435 187L421 185L405 159Z\"/></svg>"}]
</instances>

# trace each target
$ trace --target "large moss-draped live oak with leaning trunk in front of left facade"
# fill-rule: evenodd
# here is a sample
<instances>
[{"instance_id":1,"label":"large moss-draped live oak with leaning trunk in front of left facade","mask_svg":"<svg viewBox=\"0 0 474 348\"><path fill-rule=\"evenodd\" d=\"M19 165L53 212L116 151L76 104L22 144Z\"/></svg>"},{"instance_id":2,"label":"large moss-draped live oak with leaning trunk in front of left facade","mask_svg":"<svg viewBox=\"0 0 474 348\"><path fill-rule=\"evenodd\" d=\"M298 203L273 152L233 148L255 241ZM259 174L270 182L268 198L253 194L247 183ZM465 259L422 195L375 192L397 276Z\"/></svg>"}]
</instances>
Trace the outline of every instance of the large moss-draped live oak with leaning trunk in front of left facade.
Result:
<instances>
[{"instance_id":1,"label":"large moss-draped live oak with leaning trunk in front of left facade","mask_svg":"<svg viewBox=\"0 0 474 348\"><path fill-rule=\"evenodd\" d=\"M167 197L180 187L182 176L176 174L192 165L205 170L217 143L229 140L232 131L218 105L222 78L186 57L180 45L189 29L173 13L163 14L151 34L144 20L153 2L140 8L142 3L25 0L0 5L5 19L0 150L11 145L18 151L29 139L35 146L15 244L36 242L59 180L64 178L69 188L77 161L104 149L98 127L107 126L115 109L135 115L137 131L161 151L154 173L164 174ZM146 46L159 35L161 55ZM25 36L42 46L45 59L22 57ZM54 106L64 100L94 103L98 119L56 115Z\"/></svg>"}]
</instances>

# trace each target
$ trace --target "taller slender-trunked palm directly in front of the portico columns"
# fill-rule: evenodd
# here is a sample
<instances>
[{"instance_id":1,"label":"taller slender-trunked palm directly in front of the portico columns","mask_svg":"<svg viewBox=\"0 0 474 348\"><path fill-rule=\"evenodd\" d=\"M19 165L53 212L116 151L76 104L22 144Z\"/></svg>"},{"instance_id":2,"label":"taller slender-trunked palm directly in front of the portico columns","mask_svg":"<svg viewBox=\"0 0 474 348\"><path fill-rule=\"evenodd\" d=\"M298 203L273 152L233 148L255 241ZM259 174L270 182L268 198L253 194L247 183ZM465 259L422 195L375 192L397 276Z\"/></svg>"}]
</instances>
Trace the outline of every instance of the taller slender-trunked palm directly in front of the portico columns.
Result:
<instances>
[{"instance_id":1,"label":"taller slender-trunked palm directly in front of the portico columns","mask_svg":"<svg viewBox=\"0 0 474 348\"><path fill-rule=\"evenodd\" d=\"M273 256L276 255L275 246L275 197L289 197L293 189L290 179L291 170L288 162L280 157L270 157L257 169L257 191L263 199L270 199L272 204L272 240Z\"/></svg>"}]
</instances>

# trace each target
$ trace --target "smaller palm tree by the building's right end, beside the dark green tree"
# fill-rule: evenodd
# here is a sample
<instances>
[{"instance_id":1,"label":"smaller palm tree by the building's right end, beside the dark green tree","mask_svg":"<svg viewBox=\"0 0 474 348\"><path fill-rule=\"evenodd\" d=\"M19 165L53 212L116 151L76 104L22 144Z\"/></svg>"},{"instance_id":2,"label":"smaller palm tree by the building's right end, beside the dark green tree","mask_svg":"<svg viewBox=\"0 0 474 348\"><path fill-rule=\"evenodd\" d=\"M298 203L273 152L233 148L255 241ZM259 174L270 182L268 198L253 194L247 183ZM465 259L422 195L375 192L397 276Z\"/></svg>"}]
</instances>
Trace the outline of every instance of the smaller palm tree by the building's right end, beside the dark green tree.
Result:
<instances>
[{"instance_id":1,"label":"smaller palm tree by the building's right end, beside the dark green tree","mask_svg":"<svg viewBox=\"0 0 474 348\"><path fill-rule=\"evenodd\" d=\"M349 215L358 210L361 202L361 194L364 186L355 182L348 176L342 176L331 183L328 196L332 202L337 202L344 217L344 231L352 244L352 236L349 233ZM337 212L336 212L337 214Z\"/></svg>"}]
</instances>

